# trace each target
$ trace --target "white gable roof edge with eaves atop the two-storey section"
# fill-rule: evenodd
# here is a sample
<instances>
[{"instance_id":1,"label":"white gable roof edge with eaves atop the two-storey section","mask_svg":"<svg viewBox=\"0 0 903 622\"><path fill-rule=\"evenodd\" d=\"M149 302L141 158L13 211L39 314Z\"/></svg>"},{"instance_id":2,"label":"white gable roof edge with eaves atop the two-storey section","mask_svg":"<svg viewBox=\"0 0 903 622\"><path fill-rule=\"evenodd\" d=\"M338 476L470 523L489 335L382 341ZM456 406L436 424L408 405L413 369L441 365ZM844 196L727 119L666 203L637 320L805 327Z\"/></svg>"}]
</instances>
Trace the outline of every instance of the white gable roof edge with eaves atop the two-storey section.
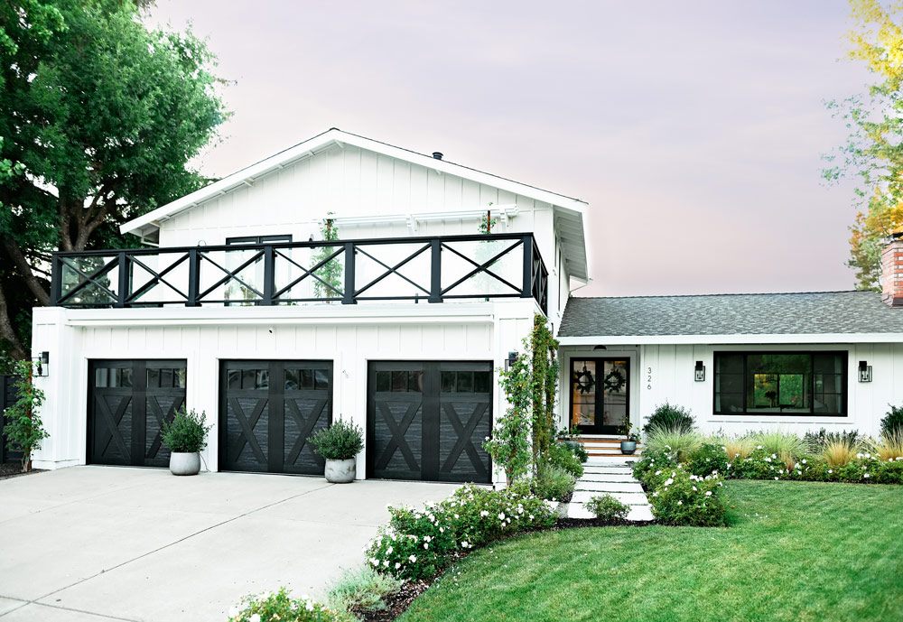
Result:
<instances>
[{"instance_id":1,"label":"white gable roof edge with eaves atop the two-storey section","mask_svg":"<svg viewBox=\"0 0 903 622\"><path fill-rule=\"evenodd\" d=\"M336 127L320 135L313 136L303 143L289 147L282 152L275 153L275 155L271 155L265 160L251 164L143 216L133 218L119 227L119 231L123 234L132 233L136 236L148 237L160 227L160 222L167 218L172 218L186 209L197 207L200 203L215 199L230 190L235 190L245 184L251 184L257 178L278 171L304 158L312 157L316 153L330 149L335 144L350 144L361 149L404 160L405 162L419 164L436 172L455 175L466 180L498 188L499 190L507 190L520 196L551 204L554 206L555 225L556 227L561 227L560 237L562 238L564 256L572 267L572 276L582 281L587 280L588 262L583 222L587 206L585 201L566 197L563 194L557 194L549 190L542 190L541 188L492 175L488 172L478 171L477 169L447 160L438 160L432 155L416 153L391 144L381 143L365 136L342 132Z\"/></svg>"}]
</instances>

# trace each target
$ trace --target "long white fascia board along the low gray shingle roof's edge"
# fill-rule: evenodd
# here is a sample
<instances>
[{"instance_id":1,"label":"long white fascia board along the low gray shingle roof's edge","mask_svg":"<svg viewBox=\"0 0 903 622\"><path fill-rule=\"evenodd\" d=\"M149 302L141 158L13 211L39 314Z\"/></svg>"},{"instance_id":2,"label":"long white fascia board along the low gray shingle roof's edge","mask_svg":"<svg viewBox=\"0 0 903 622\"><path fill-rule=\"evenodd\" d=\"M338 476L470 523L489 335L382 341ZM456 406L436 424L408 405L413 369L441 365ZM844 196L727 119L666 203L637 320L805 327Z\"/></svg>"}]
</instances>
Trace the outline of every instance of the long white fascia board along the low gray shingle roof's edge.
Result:
<instances>
[{"instance_id":1,"label":"long white fascia board along the low gray shingle roof's edge","mask_svg":"<svg viewBox=\"0 0 903 622\"><path fill-rule=\"evenodd\" d=\"M903 343L903 333L805 333L798 335L635 335L559 337L562 346L675 346L675 345L758 345L796 343Z\"/></svg>"}]
</instances>

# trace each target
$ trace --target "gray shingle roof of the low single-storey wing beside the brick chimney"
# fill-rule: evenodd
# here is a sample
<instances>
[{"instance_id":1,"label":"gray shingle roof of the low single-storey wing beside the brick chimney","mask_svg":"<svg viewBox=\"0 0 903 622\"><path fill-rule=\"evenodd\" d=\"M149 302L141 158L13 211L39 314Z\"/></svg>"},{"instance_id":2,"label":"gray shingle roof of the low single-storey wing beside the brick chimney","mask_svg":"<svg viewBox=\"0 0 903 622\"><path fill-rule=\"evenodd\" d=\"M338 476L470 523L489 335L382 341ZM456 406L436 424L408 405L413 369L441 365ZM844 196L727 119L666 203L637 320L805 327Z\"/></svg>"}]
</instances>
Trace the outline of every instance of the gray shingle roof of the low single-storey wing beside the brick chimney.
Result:
<instances>
[{"instance_id":1,"label":"gray shingle roof of the low single-storey wing beside the brick chimney","mask_svg":"<svg viewBox=\"0 0 903 622\"><path fill-rule=\"evenodd\" d=\"M571 298L560 337L903 333L878 292Z\"/></svg>"}]
</instances>

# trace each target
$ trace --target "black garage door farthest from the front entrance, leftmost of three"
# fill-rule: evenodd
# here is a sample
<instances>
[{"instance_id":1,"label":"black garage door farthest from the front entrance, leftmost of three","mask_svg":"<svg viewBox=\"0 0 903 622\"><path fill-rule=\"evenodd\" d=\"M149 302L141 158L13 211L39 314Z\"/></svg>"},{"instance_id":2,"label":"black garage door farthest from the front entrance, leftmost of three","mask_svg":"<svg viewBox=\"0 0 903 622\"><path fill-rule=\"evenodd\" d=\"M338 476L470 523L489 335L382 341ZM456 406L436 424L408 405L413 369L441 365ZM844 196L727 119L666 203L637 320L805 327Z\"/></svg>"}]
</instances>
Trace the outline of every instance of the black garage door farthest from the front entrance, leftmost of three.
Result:
<instances>
[{"instance_id":1,"label":"black garage door farthest from the front entrance, leftmost of three","mask_svg":"<svg viewBox=\"0 0 903 622\"><path fill-rule=\"evenodd\" d=\"M88 463L166 467L160 425L185 405L185 361L88 363Z\"/></svg>"}]
</instances>

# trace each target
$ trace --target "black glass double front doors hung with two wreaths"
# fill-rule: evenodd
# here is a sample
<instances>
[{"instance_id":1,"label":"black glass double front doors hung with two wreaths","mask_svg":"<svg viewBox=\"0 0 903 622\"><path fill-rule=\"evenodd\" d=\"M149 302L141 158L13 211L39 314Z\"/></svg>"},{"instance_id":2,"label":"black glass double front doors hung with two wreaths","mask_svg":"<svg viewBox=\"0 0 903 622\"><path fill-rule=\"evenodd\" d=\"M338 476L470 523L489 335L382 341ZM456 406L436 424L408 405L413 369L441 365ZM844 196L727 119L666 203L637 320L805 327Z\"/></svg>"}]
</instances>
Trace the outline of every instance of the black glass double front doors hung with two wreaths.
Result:
<instances>
[{"instance_id":1,"label":"black glass double front doors hung with two wreaths","mask_svg":"<svg viewBox=\"0 0 903 622\"><path fill-rule=\"evenodd\" d=\"M586 434L617 434L629 421L628 358L571 359L571 425Z\"/></svg>"}]
</instances>

